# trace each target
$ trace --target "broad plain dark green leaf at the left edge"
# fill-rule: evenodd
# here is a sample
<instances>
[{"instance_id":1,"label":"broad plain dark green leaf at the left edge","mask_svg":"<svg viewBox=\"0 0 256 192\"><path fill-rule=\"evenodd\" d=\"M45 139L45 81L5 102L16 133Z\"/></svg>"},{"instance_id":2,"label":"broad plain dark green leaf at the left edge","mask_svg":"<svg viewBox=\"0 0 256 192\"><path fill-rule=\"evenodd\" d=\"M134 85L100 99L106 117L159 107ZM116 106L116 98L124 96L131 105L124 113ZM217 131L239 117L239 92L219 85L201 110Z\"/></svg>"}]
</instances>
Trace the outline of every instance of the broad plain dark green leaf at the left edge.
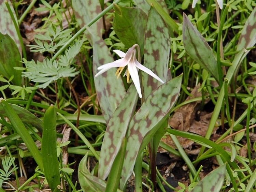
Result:
<instances>
[{"instance_id":1,"label":"broad plain dark green leaf at the left edge","mask_svg":"<svg viewBox=\"0 0 256 192\"><path fill-rule=\"evenodd\" d=\"M13 69L14 67L22 67L22 62L16 43L8 34L0 33L0 74L6 78L12 75L14 85L22 85L22 72Z\"/></svg>"}]
</instances>

